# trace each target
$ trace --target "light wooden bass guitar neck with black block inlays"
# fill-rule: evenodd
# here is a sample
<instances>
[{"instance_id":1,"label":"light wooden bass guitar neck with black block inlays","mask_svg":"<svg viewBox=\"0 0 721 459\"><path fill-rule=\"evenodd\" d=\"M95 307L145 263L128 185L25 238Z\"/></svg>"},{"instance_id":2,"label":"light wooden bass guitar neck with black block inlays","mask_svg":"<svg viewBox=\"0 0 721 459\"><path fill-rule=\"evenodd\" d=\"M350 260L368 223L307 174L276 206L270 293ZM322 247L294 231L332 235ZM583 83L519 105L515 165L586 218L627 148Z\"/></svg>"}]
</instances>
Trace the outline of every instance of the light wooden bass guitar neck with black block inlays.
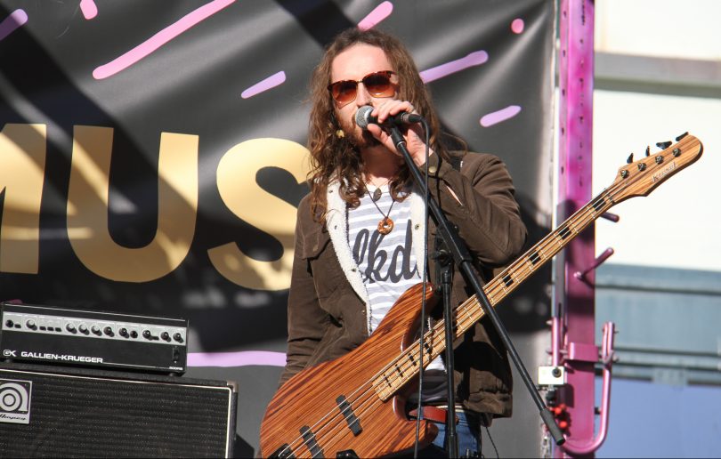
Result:
<instances>
[{"instance_id":1,"label":"light wooden bass guitar neck with black block inlays","mask_svg":"<svg viewBox=\"0 0 721 459\"><path fill-rule=\"evenodd\" d=\"M615 204L612 199L612 190L604 190L590 203L573 213L568 220L563 221L563 224L555 231L531 247L523 256L509 265L506 270L493 278L483 287L483 293L488 297L491 306L496 307L517 286L520 286L523 281L531 277L543 264L551 260L555 254L558 254L563 247L576 238L583 229L586 229L589 224ZM458 338L466 333L484 315L485 312L482 309L481 302L475 295L460 304L454 311L456 337ZM417 376L421 366L416 365L416 362L422 360L422 366L425 367L433 358L441 355L443 350L446 349L444 327L445 322L439 320L431 330L425 333L423 358L420 357L420 340L417 340L378 374L373 386L381 399L390 399L396 391ZM404 371L399 372L398 368L400 367L404 368Z\"/></svg>"}]
</instances>

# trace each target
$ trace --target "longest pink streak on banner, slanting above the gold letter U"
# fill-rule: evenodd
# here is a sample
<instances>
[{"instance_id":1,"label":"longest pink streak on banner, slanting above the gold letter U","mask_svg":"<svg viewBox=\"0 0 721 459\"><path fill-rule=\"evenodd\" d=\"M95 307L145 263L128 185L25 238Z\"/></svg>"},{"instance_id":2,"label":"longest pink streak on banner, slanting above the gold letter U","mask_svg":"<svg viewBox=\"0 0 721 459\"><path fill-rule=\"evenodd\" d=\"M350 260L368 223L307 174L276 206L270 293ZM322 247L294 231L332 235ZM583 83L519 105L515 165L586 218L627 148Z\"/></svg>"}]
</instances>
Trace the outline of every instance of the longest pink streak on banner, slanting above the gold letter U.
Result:
<instances>
[{"instance_id":1,"label":"longest pink streak on banner, slanting above the gold letter U","mask_svg":"<svg viewBox=\"0 0 721 459\"><path fill-rule=\"evenodd\" d=\"M174 22L168 27L160 30L154 36L142 44L138 44L132 50L126 52L115 60L111 60L105 65L101 65L93 70L93 77L97 80L113 76L121 70L132 66L138 60L147 57L151 52L155 52L160 46L166 44L176 36L192 28L203 20L207 20L210 16L223 10L229 4L235 3L235 0L213 0L209 4L204 4L197 10L189 12L182 17L181 20Z\"/></svg>"}]
</instances>

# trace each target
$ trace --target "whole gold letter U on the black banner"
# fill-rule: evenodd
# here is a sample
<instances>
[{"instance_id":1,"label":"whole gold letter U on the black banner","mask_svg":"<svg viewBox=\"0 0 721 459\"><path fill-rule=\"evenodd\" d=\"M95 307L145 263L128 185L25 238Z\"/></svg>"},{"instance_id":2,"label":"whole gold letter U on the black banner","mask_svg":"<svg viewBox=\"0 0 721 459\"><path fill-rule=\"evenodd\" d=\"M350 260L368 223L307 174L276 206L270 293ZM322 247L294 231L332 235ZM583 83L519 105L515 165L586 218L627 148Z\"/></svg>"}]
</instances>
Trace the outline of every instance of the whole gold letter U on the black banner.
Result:
<instances>
[{"instance_id":1,"label":"whole gold letter U on the black banner","mask_svg":"<svg viewBox=\"0 0 721 459\"><path fill-rule=\"evenodd\" d=\"M118 246L108 227L113 130L75 126L68 233L78 259L103 278L148 282L174 270L190 251L198 214L198 136L161 133L158 229L149 245Z\"/></svg>"}]
</instances>

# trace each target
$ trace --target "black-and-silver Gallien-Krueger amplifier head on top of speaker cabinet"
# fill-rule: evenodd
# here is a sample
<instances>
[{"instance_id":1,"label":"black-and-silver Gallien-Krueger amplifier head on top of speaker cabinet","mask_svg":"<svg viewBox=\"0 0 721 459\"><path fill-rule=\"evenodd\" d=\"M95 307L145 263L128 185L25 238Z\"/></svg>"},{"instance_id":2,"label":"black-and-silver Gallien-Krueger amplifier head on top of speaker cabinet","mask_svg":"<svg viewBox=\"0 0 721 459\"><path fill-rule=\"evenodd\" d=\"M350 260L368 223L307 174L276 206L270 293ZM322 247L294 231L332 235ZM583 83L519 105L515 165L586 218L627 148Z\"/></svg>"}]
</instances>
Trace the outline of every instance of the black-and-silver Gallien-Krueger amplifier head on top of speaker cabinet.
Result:
<instances>
[{"instance_id":1,"label":"black-and-silver Gallien-Krueger amplifier head on top of speaker cabinet","mask_svg":"<svg viewBox=\"0 0 721 459\"><path fill-rule=\"evenodd\" d=\"M188 321L0 302L0 354L45 365L182 374Z\"/></svg>"}]
</instances>

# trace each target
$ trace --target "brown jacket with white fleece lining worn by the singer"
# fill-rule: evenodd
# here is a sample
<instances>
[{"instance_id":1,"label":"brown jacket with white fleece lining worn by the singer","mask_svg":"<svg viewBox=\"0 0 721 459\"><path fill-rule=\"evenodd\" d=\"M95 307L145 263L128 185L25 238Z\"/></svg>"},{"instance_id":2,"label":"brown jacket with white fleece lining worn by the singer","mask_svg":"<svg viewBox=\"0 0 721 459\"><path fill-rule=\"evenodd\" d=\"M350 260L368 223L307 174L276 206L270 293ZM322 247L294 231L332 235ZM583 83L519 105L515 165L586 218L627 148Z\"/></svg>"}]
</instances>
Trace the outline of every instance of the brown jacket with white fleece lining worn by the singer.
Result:
<instances>
[{"instance_id":1,"label":"brown jacket with white fleece lining worn by the singer","mask_svg":"<svg viewBox=\"0 0 721 459\"><path fill-rule=\"evenodd\" d=\"M490 270L513 261L526 238L506 166L498 157L469 153L462 157L459 172L437 155L429 159L428 169L431 195L457 225L482 282L488 281ZM337 194L337 184L328 187L325 224L313 221L309 197L304 197L298 207L296 255L288 296L288 361L281 383L308 366L343 356L369 336L368 294L345 242L344 202ZM413 246L418 270L423 272L424 213L422 200L416 201L411 205L415 209L411 211ZM434 234L432 221L429 252ZM429 263L433 273L433 261ZM453 302L460 304L472 294L457 272ZM506 349L486 320L454 343L456 394L458 402L469 409L510 416L513 383Z\"/></svg>"}]
</instances>

